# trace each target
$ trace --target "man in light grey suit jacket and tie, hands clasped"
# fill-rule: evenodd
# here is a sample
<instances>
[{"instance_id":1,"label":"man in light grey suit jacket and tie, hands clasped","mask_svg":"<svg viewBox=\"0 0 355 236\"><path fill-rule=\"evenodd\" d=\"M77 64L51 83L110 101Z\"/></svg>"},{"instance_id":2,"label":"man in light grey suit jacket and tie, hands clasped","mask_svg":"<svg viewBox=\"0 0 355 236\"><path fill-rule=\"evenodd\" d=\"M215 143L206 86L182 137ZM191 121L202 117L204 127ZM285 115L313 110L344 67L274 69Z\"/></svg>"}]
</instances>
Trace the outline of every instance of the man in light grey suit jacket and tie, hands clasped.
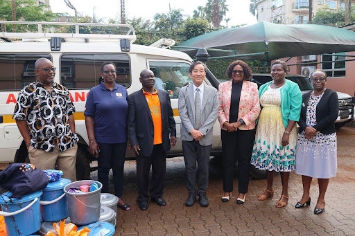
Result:
<instances>
[{"instance_id":1,"label":"man in light grey suit jacket and tie, hands clasped","mask_svg":"<svg viewBox=\"0 0 355 236\"><path fill-rule=\"evenodd\" d=\"M189 190L186 206L193 206L197 195L200 206L209 205L206 190L213 126L218 116L218 93L214 87L204 84L206 69L202 62L193 62L189 69L189 77L193 83L182 87L179 93L182 150L187 190ZM198 170L198 190L196 190L196 170Z\"/></svg>"}]
</instances>

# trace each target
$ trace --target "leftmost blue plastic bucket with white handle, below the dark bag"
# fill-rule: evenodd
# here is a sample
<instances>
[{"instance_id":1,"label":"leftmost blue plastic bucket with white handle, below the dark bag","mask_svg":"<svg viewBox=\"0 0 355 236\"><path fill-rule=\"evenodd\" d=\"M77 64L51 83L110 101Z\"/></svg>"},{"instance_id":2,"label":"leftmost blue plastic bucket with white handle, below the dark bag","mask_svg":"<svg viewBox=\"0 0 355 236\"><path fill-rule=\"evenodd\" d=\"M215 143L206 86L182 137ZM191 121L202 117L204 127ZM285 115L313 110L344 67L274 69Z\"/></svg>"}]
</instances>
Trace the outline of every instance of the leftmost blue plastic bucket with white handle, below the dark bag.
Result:
<instances>
[{"instance_id":1,"label":"leftmost blue plastic bucket with white handle, below the dark bag","mask_svg":"<svg viewBox=\"0 0 355 236\"><path fill-rule=\"evenodd\" d=\"M0 206L10 236L31 235L41 228L40 196L42 191L10 198L12 192L0 196Z\"/></svg>"}]
</instances>

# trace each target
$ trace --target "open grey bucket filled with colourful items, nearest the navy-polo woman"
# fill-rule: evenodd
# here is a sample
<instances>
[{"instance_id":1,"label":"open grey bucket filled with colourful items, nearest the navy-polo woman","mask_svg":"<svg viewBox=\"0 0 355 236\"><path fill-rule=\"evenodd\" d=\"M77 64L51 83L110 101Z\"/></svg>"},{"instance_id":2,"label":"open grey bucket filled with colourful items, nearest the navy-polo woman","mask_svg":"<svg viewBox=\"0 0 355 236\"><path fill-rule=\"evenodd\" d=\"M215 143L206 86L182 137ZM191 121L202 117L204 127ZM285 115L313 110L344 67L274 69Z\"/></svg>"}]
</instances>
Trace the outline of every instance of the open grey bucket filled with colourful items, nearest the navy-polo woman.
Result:
<instances>
[{"instance_id":1,"label":"open grey bucket filled with colourful items, nearest the navy-polo woman","mask_svg":"<svg viewBox=\"0 0 355 236\"><path fill-rule=\"evenodd\" d=\"M93 183L96 183L98 188L91 192L68 192L69 188L79 188L81 185L92 186ZM67 194L71 223L76 225L87 225L96 222L98 218L100 218L101 188L103 188L102 183L93 180L75 181L64 187L64 192Z\"/></svg>"}]
</instances>

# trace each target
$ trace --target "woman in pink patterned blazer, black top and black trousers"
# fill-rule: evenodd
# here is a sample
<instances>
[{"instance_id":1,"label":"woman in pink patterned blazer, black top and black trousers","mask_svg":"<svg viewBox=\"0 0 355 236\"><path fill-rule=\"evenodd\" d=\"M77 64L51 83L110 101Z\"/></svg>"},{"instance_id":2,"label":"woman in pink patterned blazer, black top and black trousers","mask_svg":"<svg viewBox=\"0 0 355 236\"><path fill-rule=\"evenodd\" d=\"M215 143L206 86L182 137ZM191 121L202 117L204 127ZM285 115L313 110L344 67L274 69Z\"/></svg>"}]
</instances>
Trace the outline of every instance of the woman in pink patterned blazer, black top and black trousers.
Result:
<instances>
[{"instance_id":1,"label":"woman in pink patterned blazer, black top and black trousers","mask_svg":"<svg viewBox=\"0 0 355 236\"><path fill-rule=\"evenodd\" d=\"M255 122L260 113L257 84L250 82L248 64L236 60L228 66L227 77L218 89L218 120L223 151L223 197L230 200L233 190L234 166L238 162L239 194L236 203L243 204L248 192L250 157L255 138Z\"/></svg>"}]
</instances>

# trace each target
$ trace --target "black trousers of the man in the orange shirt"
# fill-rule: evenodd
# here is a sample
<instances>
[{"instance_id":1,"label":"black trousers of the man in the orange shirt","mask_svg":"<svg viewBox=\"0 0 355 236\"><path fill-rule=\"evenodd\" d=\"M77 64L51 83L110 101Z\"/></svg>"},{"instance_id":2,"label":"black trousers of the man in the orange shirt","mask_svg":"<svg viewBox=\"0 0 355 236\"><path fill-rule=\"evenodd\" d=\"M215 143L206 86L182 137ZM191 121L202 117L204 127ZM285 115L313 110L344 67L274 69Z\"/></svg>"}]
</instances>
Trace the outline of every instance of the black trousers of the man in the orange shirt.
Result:
<instances>
[{"instance_id":1,"label":"black trousers of the man in the orange shirt","mask_svg":"<svg viewBox=\"0 0 355 236\"><path fill-rule=\"evenodd\" d=\"M149 194L149 171L152 167L152 181ZM162 197L166 173L166 152L163 145L154 145L150 156L137 156L137 202Z\"/></svg>"}]
</instances>

